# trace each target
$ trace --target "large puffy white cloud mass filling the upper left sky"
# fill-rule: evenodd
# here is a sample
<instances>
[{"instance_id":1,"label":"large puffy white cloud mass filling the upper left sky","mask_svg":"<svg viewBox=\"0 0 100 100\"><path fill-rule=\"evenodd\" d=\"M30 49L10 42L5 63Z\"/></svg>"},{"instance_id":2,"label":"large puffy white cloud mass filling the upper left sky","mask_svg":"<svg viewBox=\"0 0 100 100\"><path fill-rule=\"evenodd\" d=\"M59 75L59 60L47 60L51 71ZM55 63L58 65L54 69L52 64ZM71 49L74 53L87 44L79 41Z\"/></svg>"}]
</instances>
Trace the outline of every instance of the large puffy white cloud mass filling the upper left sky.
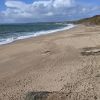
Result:
<instances>
[{"instance_id":1,"label":"large puffy white cloud mass filling the upper left sky","mask_svg":"<svg viewBox=\"0 0 100 100\"><path fill-rule=\"evenodd\" d=\"M4 17L13 19L13 21L32 19L33 21L42 21L47 17L61 14L62 10L72 7L74 0L49 0L35 1L32 4L26 4L22 1L7 0L5 2L6 10L2 11ZM60 11L60 12L59 12ZM25 20L24 20L25 21Z\"/></svg>"}]
</instances>

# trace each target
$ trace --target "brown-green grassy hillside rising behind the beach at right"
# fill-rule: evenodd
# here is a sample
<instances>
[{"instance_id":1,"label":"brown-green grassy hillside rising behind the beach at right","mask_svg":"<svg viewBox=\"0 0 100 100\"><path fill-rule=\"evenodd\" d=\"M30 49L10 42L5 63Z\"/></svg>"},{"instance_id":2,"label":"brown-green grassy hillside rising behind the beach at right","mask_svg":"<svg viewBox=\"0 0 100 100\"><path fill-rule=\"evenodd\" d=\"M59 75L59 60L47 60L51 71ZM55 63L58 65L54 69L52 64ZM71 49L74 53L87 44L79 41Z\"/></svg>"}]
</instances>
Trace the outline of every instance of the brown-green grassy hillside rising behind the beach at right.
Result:
<instances>
[{"instance_id":1,"label":"brown-green grassy hillside rising behind the beach at right","mask_svg":"<svg viewBox=\"0 0 100 100\"><path fill-rule=\"evenodd\" d=\"M100 25L100 15L75 21L76 24Z\"/></svg>"}]
</instances>

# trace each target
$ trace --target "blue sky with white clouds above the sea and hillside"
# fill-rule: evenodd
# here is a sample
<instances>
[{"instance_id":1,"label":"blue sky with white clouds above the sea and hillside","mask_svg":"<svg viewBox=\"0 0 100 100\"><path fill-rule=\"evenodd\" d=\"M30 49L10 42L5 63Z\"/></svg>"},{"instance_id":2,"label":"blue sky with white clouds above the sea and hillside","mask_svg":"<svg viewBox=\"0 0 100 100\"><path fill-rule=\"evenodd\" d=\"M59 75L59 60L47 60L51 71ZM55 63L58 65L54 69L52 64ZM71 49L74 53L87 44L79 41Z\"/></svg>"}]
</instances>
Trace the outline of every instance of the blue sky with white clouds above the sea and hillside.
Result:
<instances>
[{"instance_id":1,"label":"blue sky with white clouds above the sea and hillside","mask_svg":"<svg viewBox=\"0 0 100 100\"><path fill-rule=\"evenodd\" d=\"M100 14L100 0L0 0L0 23L77 20Z\"/></svg>"}]
</instances>

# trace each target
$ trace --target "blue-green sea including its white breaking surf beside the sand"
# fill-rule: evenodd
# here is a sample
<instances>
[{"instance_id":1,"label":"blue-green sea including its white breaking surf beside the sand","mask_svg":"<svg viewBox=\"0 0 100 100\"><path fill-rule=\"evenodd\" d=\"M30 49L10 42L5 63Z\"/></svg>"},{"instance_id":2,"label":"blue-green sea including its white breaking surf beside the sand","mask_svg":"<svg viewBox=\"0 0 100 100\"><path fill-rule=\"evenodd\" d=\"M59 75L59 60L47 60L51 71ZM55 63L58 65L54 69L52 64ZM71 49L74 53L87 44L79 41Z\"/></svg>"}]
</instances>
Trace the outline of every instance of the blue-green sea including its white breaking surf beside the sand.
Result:
<instances>
[{"instance_id":1,"label":"blue-green sea including its white breaking surf beside the sand","mask_svg":"<svg viewBox=\"0 0 100 100\"><path fill-rule=\"evenodd\" d=\"M20 39L63 31L73 27L73 24L63 22L0 24L0 45Z\"/></svg>"}]
</instances>

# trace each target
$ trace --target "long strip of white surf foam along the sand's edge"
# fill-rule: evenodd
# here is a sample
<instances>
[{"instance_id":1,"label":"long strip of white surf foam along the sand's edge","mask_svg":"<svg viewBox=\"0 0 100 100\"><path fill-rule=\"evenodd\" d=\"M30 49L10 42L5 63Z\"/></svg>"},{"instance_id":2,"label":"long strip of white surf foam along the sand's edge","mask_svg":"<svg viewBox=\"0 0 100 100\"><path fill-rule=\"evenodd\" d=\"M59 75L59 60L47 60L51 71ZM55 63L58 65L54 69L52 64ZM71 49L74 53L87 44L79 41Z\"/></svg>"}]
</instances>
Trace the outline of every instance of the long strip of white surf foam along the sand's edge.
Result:
<instances>
[{"instance_id":1,"label":"long strip of white surf foam along the sand's edge","mask_svg":"<svg viewBox=\"0 0 100 100\"><path fill-rule=\"evenodd\" d=\"M41 32L31 32L31 35L24 35L24 36L19 36L17 38L11 37L11 38L7 38L7 39L2 39L0 42L0 45L3 44L8 44L11 42L14 42L16 40L21 40L21 39L27 39L27 38L31 38L31 37L36 37L36 36L40 36L40 35L45 35L45 34L50 34L50 33L55 33L55 32L59 32L59 31L64 31L64 30L68 30L75 27L75 25L73 24L67 24L67 27L64 28L60 28L60 29L55 29L55 30L49 30L49 31L41 31Z\"/></svg>"}]
</instances>

